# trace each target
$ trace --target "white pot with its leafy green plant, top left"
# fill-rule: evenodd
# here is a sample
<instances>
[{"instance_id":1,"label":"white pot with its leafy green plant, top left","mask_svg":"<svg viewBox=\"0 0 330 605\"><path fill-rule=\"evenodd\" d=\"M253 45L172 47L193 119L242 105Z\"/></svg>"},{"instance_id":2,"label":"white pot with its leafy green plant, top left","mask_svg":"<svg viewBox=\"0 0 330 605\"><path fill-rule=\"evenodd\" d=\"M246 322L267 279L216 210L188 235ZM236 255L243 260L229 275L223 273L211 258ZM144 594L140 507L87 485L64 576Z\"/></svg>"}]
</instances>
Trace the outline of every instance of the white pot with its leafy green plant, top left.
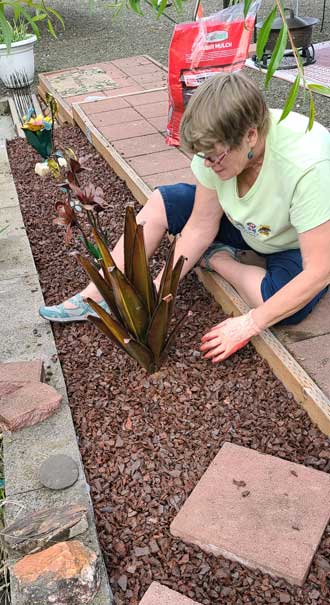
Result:
<instances>
[{"instance_id":1,"label":"white pot with its leafy green plant, top left","mask_svg":"<svg viewBox=\"0 0 330 605\"><path fill-rule=\"evenodd\" d=\"M64 27L61 15L33 0L0 0L0 78L8 88L34 79L34 44L40 37L38 22L46 21L56 37L53 18ZM16 77L15 77L16 76Z\"/></svg>"}]
</instances>

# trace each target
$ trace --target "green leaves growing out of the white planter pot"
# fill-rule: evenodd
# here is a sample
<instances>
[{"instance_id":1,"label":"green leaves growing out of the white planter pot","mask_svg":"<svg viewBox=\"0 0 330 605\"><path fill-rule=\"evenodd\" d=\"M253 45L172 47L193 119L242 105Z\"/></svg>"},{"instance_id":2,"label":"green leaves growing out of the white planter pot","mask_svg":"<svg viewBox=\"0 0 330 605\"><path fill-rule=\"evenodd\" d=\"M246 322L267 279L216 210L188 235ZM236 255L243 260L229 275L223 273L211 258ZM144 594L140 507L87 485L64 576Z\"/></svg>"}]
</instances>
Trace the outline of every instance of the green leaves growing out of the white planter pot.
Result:
<instances>
[{"instance_id":1,"label":"green leaves growing out of the white planter pot","mask_svg":"<svg viewBox=\"0 0 330 605\"><path fill-rule=\"evenodd\" d=\"M8 18L5 9L10 10ZM6 44L8 52L12 42L24 40L34 34L40 38L38 22L46 21L48 32L56 38L53 22L56 21L64 29L64 21L60 13L47 6L43 0L0 0L0 44ZM20 37L23 36L23 37Z\"/></svg>"}]
</instances>

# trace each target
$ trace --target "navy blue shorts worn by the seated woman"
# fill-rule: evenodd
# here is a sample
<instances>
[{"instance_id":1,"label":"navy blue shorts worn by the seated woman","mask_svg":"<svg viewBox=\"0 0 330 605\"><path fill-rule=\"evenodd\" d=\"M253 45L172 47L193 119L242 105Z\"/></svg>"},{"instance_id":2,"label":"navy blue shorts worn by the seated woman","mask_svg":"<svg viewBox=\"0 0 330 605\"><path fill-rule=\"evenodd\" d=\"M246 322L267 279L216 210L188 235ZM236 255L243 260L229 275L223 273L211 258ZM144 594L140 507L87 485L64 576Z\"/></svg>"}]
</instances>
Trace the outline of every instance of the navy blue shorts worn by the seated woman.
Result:
<instances>
[{"instance_id":1,"label":"navy blue shorts worn by the seated woman","mask_svg":"<svg viewBox=\"0 0 330 605\"><path fill-rule=\"evenodd\" d=\"M195 185L178 183L158 187L164 200L168 230L171 235L180 233L188 221L195 200ZM222 244L233 246L240 250L253 250L243 239L241 232L224 215L221 219L220 229L215 238ZM303 270L301 252L296 250L283 250L274 254L261 254L266 260L266 275L261 282L261 295L264 301L283 288L289 281ZM317 294L303 309L297 311L281 322L281 325L297 324L312 311L328 288Z\"/></svg>"}]
</instances>

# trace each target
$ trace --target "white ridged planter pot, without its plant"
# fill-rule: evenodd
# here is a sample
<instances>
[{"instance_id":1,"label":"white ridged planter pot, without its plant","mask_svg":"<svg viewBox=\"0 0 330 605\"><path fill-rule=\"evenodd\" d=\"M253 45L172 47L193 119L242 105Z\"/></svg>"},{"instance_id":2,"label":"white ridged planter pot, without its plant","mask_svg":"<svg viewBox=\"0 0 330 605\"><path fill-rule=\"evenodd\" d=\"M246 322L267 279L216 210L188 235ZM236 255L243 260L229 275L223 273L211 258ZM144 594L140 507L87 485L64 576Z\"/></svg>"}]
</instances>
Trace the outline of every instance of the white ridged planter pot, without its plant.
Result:
<instances>
[{"instance_id":1,"label":"white ridged planter pot, without its plant","mask_svg":"<svg viewBox=\"0 0 330 605\"><path fill-rule=\"evenodd\" d=\"M0 78L8 88L12 88L10 76L25 74L31 84L34 79L34 51L36 36L12 42L9 53L5 44L0 44Z\"/></svg>"}]
</instances>

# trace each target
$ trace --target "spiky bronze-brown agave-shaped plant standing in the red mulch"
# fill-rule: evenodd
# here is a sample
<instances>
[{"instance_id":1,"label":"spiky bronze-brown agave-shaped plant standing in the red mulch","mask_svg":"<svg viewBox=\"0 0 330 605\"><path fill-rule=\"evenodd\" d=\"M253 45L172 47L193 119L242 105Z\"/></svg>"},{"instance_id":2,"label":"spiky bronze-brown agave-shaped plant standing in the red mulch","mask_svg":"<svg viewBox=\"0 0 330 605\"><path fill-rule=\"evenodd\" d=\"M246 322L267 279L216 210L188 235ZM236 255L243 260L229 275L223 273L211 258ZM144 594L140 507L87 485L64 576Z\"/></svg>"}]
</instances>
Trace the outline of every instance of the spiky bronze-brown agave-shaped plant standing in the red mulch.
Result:
<instances>
[{"instance_id":1,"label":"spiky bronze-brown agave-shaped plant standing in the red mulch","mask_svg":"<svg viewBox=\"0 0 330 605\"><path fill-rule=\"evenodd\" d=\"M90 316L89 319L147 372L153 373L167 357L177 330L186 316L185 314L170 332L184 258L181 256L173 266L174 240L157 292L148 267L143 226L137 225L131 206L126 208L125 215L124 272L116 266L96 229L93 230L93 235L101 253L101 261L95 265L80 254L77 254L77 258L108 304L111 315L88 299L98 315Z\"/></svg>"}]
</instances>

